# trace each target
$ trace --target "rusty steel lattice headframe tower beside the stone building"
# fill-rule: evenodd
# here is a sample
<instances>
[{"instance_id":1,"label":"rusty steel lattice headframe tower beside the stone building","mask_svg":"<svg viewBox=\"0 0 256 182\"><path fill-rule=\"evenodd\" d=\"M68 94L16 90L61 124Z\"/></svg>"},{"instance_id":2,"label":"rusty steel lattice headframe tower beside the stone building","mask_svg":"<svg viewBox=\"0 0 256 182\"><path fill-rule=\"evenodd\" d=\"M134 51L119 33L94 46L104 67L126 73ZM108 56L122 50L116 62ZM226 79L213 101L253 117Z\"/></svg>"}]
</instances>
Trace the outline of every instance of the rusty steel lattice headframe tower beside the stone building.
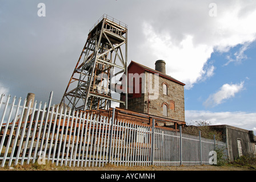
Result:
<instances>
[{"instance_id":1,"label":"rusty steel lattice headframe tower beside the stone building","mask_svg":"<svg viewBox=\"0 0 256 182\"><path fill-rule=\"evenodd\" d=\"M127 25L104 14L89 31L61 104L72 110L98 110L109 109L114 101L127 109L127 77L123 75L127 75ZM121 76L125 80L117 86ZM113 93L120 92L125 93L124 101L113 98Z\"/></svg>"}]
</instances>

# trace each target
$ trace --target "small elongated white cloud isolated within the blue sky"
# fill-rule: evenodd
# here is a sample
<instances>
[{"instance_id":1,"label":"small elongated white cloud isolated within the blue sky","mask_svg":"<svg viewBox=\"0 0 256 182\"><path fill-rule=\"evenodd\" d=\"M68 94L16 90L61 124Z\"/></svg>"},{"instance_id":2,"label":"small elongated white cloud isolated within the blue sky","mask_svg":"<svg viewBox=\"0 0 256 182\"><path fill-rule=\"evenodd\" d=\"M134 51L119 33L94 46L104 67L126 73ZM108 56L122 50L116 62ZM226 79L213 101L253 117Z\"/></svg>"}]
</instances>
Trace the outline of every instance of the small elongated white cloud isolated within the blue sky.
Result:
<instances>
[{"instance_id":1,"label":"small elongated white cloud isolated within the blue sky","mask_svg":"<svg viewBox=\"0 0 256 182\"><path fill-rule=\"evenodd\" d=\"M211 94L203 103L206 107L214 107L221 104L223 101L234 97L236 93L243 89L243 83L240 84L224 84L218 92Z\"/></svg>"}]
</instances>

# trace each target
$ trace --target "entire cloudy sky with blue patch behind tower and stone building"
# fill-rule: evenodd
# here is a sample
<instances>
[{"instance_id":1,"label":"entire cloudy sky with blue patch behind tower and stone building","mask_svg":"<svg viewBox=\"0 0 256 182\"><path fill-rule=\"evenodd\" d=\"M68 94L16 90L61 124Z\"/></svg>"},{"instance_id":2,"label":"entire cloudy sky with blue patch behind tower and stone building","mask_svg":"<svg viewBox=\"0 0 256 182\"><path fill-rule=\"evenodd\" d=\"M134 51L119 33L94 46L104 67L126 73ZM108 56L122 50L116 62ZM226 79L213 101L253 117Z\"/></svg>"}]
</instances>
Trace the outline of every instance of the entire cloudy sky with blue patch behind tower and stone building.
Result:
<instances>
[{"instance_id":1,"label":"entire cloudy sky with blue patch behind tower and stone building","mask_svg":"<svg viewBox=\"0 0 256 182\"><path fill-rule=\"evenodd\" d=\"M0 94L58 104L103 14L128 25L129 63L165 60L186 84L186 122L256 134L255 0L0 0Z\"/></svg>"}]
</instances>

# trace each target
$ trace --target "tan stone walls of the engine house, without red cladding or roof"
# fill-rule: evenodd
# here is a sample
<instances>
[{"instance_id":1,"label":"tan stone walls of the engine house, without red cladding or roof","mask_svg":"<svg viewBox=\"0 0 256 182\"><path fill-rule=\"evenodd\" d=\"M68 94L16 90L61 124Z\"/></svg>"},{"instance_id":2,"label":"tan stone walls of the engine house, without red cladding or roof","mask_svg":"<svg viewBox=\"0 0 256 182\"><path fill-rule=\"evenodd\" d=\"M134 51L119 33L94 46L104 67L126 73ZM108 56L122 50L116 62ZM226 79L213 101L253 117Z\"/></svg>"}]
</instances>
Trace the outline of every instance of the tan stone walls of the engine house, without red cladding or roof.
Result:
<instances>
[{"instance_id":1,"label":"tan stone walls of the engine house, without red cladding or roof","mask_svg":"<svg viewBox=\"0 0 256 182\"><path fill-rule=\"evenodd\" d=\"M159 76L158 85L154 86L154 74L150 80L148 72L146 72L145 81L145 93L142 93L141 97L129 99L128 109L165 117L163 116L163 104L165 104L167 105L165 118L185 122L184 86L161 76ZM150 87L148 82L152 83ZM167 95L163 94L163 84L167 85ZM151 93L148 94L150 91Z\"/></svg>"}]
</instances>

